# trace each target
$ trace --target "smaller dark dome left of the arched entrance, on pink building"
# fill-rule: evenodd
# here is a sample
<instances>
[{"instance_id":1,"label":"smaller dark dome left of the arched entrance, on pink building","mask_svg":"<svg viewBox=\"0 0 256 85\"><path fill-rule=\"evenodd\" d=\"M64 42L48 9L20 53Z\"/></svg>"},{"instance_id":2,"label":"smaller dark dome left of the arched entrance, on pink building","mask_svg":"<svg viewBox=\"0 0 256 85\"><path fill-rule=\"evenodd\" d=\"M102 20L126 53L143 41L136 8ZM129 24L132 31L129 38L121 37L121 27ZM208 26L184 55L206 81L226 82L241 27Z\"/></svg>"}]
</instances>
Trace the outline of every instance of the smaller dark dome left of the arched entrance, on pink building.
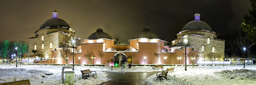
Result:
<instances>
[{"instance_id":1,"label":"smaller dark dome left of the arched entrance, on pink building","mask_svg":"<svg viewBox=\"0 0 256 85\"><path fill-rule=\"evenodd\" d=\"M111 36L103 32L101 28L97 29L96 32L92 33L87 39L93 40L93 39L100 39L100 38L112 39Z\"/></svg>"}]
</instances>

